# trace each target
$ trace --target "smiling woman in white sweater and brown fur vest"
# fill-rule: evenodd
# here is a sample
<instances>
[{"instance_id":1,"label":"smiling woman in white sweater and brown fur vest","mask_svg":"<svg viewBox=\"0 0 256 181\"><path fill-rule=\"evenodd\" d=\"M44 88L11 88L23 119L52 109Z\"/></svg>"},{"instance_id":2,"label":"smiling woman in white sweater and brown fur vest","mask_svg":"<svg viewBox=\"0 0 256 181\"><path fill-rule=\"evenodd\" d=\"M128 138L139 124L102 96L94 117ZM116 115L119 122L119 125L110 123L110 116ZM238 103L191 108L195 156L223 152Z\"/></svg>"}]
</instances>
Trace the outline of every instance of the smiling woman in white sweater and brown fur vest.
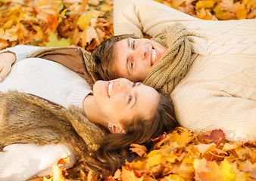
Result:
<instances>
[{"instance_id":1,"label":"smiling woman in white sweater and brown fur vest","mask_svg":"<svg viewBox=\"0 0 256 181\"><path fill-rule=\"evenodd\" d=\"M59 63L23 58L33 48L19 45L0 54L11 67L0 83L1 180L47 175L67 156L67 167L84 161L96 172L114 173L135 156L131 143L150 150L151 139L178 125L169 97L154 88L117 78L95 81L92 89Z\"/></svg>"}]
</instances>

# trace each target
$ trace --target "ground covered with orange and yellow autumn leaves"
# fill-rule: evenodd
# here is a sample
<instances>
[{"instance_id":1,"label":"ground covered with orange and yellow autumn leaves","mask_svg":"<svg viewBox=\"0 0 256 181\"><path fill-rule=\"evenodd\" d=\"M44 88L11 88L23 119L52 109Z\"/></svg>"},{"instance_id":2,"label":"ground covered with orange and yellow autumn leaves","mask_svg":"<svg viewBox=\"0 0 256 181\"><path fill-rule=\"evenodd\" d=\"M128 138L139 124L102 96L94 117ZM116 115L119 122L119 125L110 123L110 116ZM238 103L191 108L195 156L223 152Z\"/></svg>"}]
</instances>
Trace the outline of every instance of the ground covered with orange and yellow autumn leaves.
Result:
<instances>
[{"instance_id":1,"label":"ground covered with orange and yellow autumn leaves","mask_svg":"<svg viewBox=\"0 0 256 181\"><path fill-rule=\"evenodd\" d=\"M255 0L156 0L205 20L256 18ZM0 50L16 44L76 46L93 51L113 35L111 0L0 0ZM155 139L155 150L131 146L139 161L114 176L62 170L33 180L256 180L256 140L227 143L221 130L191 133L177 127Z\"/></svg>"}]
</instances>

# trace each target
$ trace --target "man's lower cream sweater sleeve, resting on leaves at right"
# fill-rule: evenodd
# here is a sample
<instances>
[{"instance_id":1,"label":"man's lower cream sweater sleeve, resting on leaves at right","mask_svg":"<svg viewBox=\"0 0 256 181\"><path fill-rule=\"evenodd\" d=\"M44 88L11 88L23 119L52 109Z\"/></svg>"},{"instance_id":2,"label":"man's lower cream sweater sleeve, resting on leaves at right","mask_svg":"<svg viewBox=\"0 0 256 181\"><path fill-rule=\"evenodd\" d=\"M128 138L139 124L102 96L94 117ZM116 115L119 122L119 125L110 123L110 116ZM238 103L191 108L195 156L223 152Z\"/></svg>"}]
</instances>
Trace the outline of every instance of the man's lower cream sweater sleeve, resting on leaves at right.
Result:
<instances>
[{"instance_id":1,"label":"man's lower cream sweater sleeve, resting on leaves at right","mask_svg":"<svg viewBox=\"0 0 256 181\"><path fill-rule=\"evenodd\" d=\"M195 133L221 129L229 141L256 139L255 100L220 90L186 89L173 94L173 103L181 126Z\"/></svg>"}]
</instances>

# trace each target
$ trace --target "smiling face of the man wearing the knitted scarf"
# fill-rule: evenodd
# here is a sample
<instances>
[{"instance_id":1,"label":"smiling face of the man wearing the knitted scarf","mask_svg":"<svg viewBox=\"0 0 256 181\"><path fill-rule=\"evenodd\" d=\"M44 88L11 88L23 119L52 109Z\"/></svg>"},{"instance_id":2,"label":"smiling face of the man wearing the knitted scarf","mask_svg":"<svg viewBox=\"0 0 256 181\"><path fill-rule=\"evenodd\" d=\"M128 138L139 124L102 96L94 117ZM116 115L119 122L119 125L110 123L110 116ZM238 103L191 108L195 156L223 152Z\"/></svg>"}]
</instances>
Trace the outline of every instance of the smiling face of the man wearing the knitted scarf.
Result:
<instances>
[{"instance_id":1,"label":"smiling face of the man wearing the knitted scarf","mask_svg":"<svg viewBox=\"0 0 256 181\"><path fill-rule=\"evenodd\" d=\"M126 38L114 44L114 67L119 78L144 81L167 52L164 45L147 38Z\"/></svg>"}]
</instances>

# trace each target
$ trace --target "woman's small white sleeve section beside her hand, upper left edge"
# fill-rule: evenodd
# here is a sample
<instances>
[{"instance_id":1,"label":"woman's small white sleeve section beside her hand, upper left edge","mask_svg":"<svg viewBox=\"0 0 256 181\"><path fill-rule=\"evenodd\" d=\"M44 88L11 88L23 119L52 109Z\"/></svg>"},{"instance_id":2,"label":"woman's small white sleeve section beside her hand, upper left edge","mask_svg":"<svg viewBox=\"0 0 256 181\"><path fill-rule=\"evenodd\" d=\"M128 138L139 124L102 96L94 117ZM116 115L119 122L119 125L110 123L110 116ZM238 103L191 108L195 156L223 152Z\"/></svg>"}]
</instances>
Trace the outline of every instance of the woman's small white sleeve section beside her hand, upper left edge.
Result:
<instances>
[{"instance_id":1,"label":"woman's small white sleeve section beside her hand, upper left edge","mask_svg":"<svg viewBox=\"0 0 256 181\"><path fill-rule=\"evenodd\" d=\"M15 47L6 48L5 50L0 51L0 54L5 51L11 51L16 55L16 61L20 61L27 58L28 55L32 54L35 51L38 51L39 49L42 49L42 47L20 44Z\"/></svg>"}]
</instances>

